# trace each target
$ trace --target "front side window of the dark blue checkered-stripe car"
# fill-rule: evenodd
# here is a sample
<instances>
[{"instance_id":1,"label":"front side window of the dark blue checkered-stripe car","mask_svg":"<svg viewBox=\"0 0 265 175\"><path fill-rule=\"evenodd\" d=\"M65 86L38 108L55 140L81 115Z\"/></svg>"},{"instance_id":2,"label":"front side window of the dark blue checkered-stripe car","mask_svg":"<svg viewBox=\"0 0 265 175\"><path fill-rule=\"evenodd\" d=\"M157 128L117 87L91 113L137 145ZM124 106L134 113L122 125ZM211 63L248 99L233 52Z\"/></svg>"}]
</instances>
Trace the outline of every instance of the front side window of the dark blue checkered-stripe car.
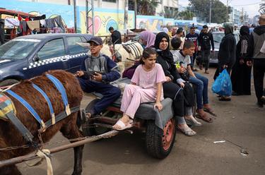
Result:
<instances>
[{"instance_id":1,"label":"front side window of the dark blue checkered-stripe car","mask_svg":"<svg viewBox=\"0 0 265 175\"><path fill-rule=\"evenodd\" d=\"M40 60L66 55L62 38L47 42L37 53Z\"/></svg>"}]
</instances>

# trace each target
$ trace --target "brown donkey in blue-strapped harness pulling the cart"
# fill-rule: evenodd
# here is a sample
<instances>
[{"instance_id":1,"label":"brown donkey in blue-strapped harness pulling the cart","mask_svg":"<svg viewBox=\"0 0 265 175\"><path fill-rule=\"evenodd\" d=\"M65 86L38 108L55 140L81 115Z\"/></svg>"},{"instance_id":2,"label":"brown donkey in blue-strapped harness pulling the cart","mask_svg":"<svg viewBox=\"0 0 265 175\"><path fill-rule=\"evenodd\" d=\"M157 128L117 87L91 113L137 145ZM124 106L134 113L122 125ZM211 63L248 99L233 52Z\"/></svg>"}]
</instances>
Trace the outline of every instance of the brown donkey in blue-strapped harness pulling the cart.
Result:
<instances>
[{"instance_id":1,"label":"brown donkey in blue-strapped harness pulling the cart","mask_svg":"<svg viewBox=\"0 0 265 175\"><path fill-rule=\"evenodd\" d=\"M78 83L78 80L73 76L73 74L66 71L55 70L48 71L50 75L56 77L66 90L66 95L68 98L69 106L78 107L81 104L81 99L83 97L83 91ZM26 102L28 102L33 109L40 115L42 121L46 122L51 119L49 113L49 106L45 97L41 95L40 92L35 90L32 83L39 86L50 99L52 107L54 109L54 114L57 115L61 111L64 111L64 103L61 98L61 94L57 87L50 81L45 73L42 76L37 76L36 78L30 80L23 80L19 84L11 87L13 92L16 92L17 95L23 97ZM40 124L33 118L30 112L18 102L11 95L5 93L13 102L14 107L16 108L16 116L23 123L23 125L28 128L28 131L34 136L33 141L35 143L41 143L38 137L38 129L40 129ZM61 131L64 137L68 139L83 137L82 133L78 130L76 121L80 112L75 112L66 116L58 123L55 123L53 126L47 128L47 130L41 133L41 138L44 143L48 142L57 131ZM1 120L0 118L0 148L11 147L11 146L20 146L26 145L26 141L23 136L18 132L11 121ZM35 150L34 147L20 148L17 150L2 150L0 151L0 160L11 159L13 157L18 157L22 155L27 155L30 152ZM83 156L83 145L74 147L74 168L73 175L80 175L82 171L82 156ZM20 174L20 171L16 165L11 165L8 167L0 168L0 174Z\"/></svg>"}]
</instances>

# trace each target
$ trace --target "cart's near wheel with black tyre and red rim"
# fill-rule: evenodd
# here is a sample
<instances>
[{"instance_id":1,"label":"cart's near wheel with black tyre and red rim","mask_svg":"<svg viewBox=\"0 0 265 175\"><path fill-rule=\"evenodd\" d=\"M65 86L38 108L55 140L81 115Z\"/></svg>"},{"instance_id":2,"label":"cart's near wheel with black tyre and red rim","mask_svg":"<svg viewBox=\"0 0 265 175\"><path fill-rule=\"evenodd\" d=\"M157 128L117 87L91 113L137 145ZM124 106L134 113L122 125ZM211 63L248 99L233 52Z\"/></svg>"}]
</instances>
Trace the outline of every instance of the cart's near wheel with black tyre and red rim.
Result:
<instances>
[{"instance_id":1,"label":"cart's near wheel with black tyre and red rim","mask_svg":"<svg viewBox=\"0 0 265 175\"><path fill-rule=\"evenodd\" d=\"M163 130L155 126L154 121L148 121L146 129L146 149L148 154L159 159L167 157L175 143L175 136L175 117L167 121Z\"/></svg>"}]
</instances>

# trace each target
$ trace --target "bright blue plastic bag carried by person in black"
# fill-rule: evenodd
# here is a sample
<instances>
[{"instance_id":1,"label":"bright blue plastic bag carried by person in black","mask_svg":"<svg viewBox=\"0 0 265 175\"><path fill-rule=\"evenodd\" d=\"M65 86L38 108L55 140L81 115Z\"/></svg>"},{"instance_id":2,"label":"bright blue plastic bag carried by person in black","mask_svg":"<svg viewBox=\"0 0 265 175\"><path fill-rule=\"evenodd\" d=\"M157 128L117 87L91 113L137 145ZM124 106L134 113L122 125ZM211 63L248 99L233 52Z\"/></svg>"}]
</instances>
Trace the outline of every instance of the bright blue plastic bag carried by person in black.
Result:
<instances>
[{"instance_id":1,"label":"bright blue plastic bag carried by person in black","mask_svg":"<svg viewBox=\"0 0 265 175\"><path fill-rule=\"evenodd\" d=\"M222 73L216 78L211 87L213 93L222 96L231 96L232 95L232 83L228 71L224 69Z\"/></svg>"}]
</instances>

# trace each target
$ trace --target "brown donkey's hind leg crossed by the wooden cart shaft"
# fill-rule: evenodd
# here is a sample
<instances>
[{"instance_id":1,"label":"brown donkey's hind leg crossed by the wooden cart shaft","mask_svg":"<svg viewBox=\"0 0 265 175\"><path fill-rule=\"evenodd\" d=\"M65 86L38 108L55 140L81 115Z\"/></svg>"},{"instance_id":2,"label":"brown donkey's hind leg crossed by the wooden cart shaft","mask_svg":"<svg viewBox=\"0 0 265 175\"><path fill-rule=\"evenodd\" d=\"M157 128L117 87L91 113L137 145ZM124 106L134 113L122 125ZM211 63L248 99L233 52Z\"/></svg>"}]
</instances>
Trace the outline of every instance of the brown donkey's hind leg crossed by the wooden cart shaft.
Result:
<instances>
[{"instance_id":1,"label":"brown donkey's hind leg crossed by the wooden cart shaft","mask_svg":"<svg viewBox=\"0 0 265 175\"><path fill-rule=\"evenodd\" d=\"M76 115L76 114L74 114ZM69 116L73 117L73 119L76 119L75 116ZM72 138L80 138L83 137L81 132L78 130L78 126L76 126L76 120L71 120L69 123L64 125L61 128L61 133L64 135L64 137L68 139ZM84 145L74 147L74 167L73 167L73 174L72 175L81 175L82 173L82 157L83 157L83 147Z\"/></svg>"}]
</instances>

